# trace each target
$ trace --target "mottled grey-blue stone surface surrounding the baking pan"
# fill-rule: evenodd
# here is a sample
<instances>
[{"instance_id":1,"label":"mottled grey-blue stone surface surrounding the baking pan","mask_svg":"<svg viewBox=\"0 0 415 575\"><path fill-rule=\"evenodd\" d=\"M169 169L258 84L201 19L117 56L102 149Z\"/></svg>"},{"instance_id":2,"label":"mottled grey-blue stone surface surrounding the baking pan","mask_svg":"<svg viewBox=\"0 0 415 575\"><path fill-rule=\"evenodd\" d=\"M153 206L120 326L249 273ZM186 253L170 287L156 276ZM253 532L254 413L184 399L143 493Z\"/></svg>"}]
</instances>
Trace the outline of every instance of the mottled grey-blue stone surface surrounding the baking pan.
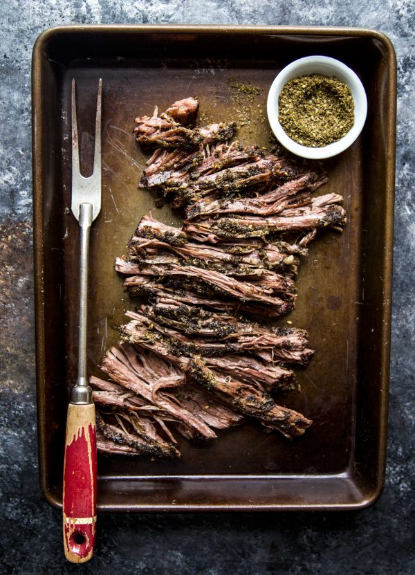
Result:
<instances>
[{"instance_id":1,"label":"mottled grey-blue stone surface surrounding the baking pan","mask_svg":"<svg viewBox=\"0 0 415 575\"><path fill-rule=\"evenodd\" d=\"M381 575L415 572L415 18L412 0L10 0L0 6L0 573ZM31 260L30 55L55 24L359 26L398 57L398 149L389 459L361 513L100 516L92 563L62 554L61 516L37 481Z\"/></svg>"}]
</instances>

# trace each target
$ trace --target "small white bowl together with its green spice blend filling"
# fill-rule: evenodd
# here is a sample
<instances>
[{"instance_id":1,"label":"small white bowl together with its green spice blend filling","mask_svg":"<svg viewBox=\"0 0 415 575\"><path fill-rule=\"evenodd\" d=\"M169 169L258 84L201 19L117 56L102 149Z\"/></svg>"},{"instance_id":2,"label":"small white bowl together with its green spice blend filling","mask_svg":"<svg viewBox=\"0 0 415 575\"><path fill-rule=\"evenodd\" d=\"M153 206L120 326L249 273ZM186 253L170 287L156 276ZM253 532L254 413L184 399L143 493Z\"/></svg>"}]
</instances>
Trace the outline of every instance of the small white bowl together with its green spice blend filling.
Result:
<instances>
[{"instance_id":1,"label":"small white bowl together with its green spice blend filling","mask_svg":"<svg viewBox=\"0 0 415 575\"><path fill-rule=\"evenodd\" d=\"M284 100L283 95L281 102L286 114L280 116L279 96L290 86L289 97ZM358 138L367 96L358 75L340 60L305 56L279 71L268 91L266 112L280 144L301 158L322 160L344 152Z\"/></svg>"}]
</instances>

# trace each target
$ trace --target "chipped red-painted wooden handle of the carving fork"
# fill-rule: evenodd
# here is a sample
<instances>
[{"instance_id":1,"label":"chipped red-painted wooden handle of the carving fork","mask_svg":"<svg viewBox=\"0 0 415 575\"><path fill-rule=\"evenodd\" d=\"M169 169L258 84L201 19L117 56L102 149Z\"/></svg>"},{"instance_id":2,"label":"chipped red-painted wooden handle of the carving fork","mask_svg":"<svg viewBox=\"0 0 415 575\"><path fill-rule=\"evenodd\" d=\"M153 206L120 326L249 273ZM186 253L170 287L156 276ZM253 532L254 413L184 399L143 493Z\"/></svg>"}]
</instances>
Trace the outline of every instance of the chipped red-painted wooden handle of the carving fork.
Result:
<instances>
[{"instance_id":1,"label":"chipped red-painted wooden handle of the carving fork","mask_svg":"<svg viewBox=\"0 0 415 575\"><path fill-rule=\"evenodd\" d=\"M68 405L64 461L64 551L72 563L91 559L97 513L95 405Z\"/></svg>"}]
</instances>

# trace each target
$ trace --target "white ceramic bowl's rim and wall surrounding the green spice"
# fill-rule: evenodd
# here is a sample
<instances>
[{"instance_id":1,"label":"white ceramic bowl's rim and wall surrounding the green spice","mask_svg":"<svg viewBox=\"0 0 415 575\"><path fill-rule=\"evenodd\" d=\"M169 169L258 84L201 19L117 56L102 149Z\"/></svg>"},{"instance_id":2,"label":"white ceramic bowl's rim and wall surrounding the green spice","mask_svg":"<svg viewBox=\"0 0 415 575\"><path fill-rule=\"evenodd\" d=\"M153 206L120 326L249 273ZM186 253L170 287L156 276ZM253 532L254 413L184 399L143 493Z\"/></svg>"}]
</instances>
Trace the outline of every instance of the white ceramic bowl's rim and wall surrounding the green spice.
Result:
<instances>
[{"instance_id":1,"label":"white ceramic bowl's rim and wall surrounding the green spice","mask_svg":"<svg viewBox=\"0 0 415 575\"><path fill-rule=\"evenodd\" d=\"M302 146L295 142L287 136L278 120L278 98L279 93L282 91L285 84L290 80L293 80L293 78L310 74L322 74L324 76L337 77L349 86L354 100L353 127L349 132L347 132L346 136L343 136L343 138L337 142L333 142L323 147ZM335 58L329 58L327 56L307 56L291 62L291 64L288 64L288 66L282 69L282 71L277 75L273 84L271 84L270 91L268 92L267 113L268 120L275 137L279 143L286 147L290 152L293 152L293 154L297 154L297 156L301 156L302 158L309 158L311 160L331 158L332 156L340 154L340 152L344 152L345 149L353 144L362 131L363 125L365 125L367 116L367 98L365 88L353 70L339 60L335 60Z\"/></svg>"}]
</instances>

